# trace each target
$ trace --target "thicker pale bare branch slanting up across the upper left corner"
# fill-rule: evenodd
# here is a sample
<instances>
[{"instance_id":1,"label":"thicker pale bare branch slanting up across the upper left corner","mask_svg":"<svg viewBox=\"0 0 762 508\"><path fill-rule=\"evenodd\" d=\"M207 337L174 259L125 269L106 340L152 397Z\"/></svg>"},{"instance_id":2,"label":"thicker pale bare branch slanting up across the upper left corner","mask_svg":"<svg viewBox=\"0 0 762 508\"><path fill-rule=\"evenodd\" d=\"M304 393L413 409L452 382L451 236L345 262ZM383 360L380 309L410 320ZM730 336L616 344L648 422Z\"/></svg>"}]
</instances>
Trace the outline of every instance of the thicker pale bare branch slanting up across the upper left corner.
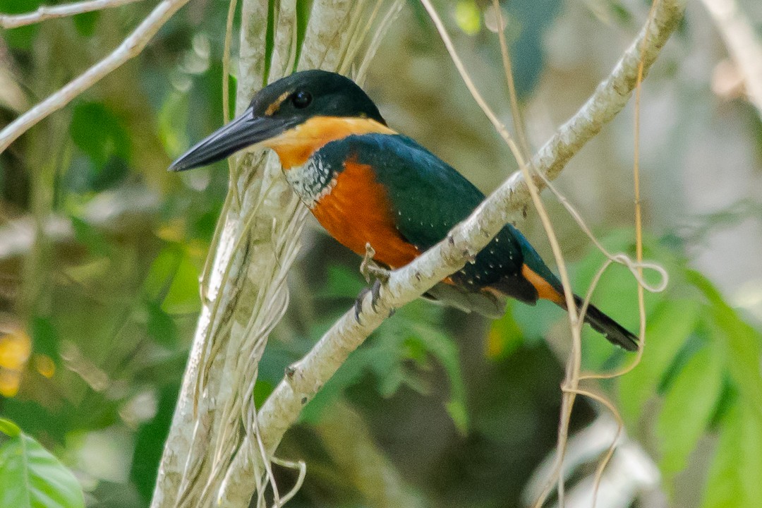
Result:
<instances>
[{"instance_id":1,"label":"thicker pale bare branch slanting up across the upper left corner","mask_svg":"<svg viewBox=\"0 0 762 508\"><path fill-rule=\"evenodd\" d=\"M0 152L5 151L18 136L27 132L40 120L66 106L83 91L100 81L101 78L137 56L158 32L158 29L164 26L168 19L187 2L188 0L163 0L109 56L69 81L59 91L9 123L8 126L5 126L5 129L0 131Z\"/></svg>"}]
</instances>

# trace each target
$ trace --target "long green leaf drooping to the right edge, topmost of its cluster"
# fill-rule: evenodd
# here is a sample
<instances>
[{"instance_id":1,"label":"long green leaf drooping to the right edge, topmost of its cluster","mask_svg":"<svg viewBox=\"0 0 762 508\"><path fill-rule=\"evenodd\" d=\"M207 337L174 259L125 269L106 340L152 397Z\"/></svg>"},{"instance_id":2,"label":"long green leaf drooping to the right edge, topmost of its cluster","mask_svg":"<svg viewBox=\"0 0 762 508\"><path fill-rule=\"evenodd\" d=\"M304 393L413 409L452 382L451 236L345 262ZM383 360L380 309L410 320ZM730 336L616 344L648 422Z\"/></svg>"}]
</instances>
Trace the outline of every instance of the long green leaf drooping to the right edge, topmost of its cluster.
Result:
<instances>
[{"instance_id":1,"label":"long green leaf drooping to the right edge, topmost of its cluster","mask_svg":"<svg viewBox=\"0 0 762 508\"><path fill-rule=\"evenodd\" d=\"M701 289L712 304L711 315L719 331L718 337L724 339L722 345L730 375L738 385L741 398L746 404L751 404L762 419L762 337L725 303L719 291L701 273L689 270L687 278Z\"/></svg>"}]
</instances>

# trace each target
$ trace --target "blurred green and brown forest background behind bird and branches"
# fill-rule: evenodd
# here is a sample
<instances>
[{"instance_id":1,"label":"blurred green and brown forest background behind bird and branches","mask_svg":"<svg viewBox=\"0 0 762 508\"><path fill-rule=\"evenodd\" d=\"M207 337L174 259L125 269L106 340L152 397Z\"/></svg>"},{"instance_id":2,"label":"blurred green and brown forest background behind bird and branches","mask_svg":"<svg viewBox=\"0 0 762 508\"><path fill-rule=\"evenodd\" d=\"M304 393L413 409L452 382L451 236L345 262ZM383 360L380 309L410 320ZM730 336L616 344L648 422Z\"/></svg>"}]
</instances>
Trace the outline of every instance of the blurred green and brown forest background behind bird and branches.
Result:
<instances>
[{"instance_id":1,"label":"blurred green and brown forest background behind bird and branches","mask_svg":"<svg viewBox=\"0 0 762 508\"><path fill-rule=\"evenodd\" d=\"M626 424L601 507L762 498L762 123L706 8L716 2L690 2L642 90L645 257L668 270L670 284L646 296L642 363L590 385ZM40 3L0 0L0 12ZM194 0L142 55L0 154L0 416L73 472L87 506L146 506L152 493L227 189L224 164L166 168L223 123L228 5ZM491 2L436 5L476 84L511 124ZM0 32L0 126L117 46L152 7ZM736 7L762 45L762 6ZM533 149L610 72L648 8L501 2ZM390 126L485 192L515 171L418 3L405 5L364 87ZM634 113L629 104L556 183L607 248L631 255ZM543 199L584 293L604 256L555 196ZM360 260L310 220L289 312L260 366L260 402L363 287ZM533 209L520 228L551 261ZM594 301L637 331L628 270L611 268ZM290 506L531 504L555 447L567 322L542 303L512 304L495 322L425 302L401 309L287 434L279 455L308 465ZM583 340L586 370L631 358L590 330ZM581 399L571 428L566 506L591 506L616 425L604 406ZM295 476L276 472L287 490Z\"/></svg>"}]
</instances>

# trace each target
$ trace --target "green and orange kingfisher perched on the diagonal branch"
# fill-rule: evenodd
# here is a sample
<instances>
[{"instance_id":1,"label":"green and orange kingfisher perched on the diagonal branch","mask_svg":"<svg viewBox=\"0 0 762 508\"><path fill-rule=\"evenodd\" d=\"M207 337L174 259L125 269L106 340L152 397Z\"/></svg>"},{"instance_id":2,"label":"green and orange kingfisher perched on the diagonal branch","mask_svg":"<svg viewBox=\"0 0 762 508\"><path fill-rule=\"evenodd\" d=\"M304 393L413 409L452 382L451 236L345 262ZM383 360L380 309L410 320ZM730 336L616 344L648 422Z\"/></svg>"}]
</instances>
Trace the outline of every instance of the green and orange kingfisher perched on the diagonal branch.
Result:
<instances>
[{"instance_id":1,"label":"green and orange kingfisher perched on the diagonal branch","mask_svg":"<svg viewBox=\"0 0 762 508\"><path fill-rule=\"evenodd\" d=\"M485 198L436 155L390 129L370 97L333 72L296 72L267 85L240 117L170 169L208 165L247 147L273 149L287 181L328 233L391 269L445 238ZM566 306L558 277L510 224L424 296L493 318L503 315L507 297ZM581 304L578 296L575 301ZM636 337L594 305L584 320L612 343L637 349Z\"/></svg>"}]
</instances>

